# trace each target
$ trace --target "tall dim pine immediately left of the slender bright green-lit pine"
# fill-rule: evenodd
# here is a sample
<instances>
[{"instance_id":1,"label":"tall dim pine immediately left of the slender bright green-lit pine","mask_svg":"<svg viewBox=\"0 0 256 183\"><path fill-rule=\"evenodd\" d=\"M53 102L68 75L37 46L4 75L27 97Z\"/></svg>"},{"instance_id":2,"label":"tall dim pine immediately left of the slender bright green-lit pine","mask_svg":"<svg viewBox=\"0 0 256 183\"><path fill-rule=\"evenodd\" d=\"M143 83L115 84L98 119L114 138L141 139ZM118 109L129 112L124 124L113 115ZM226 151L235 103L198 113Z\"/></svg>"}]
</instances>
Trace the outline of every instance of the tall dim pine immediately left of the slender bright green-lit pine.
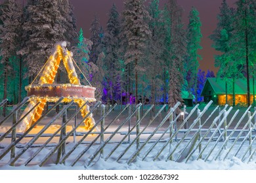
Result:
<instances>
[{"instance_id":1,"label":"tall dim pine immediately left of the slender bright green-lit pine","mask_svg":"<svg viewBox=\"0 0 256 183\"><path fill-rule=\"evenodd\" d=\"M183 104L181 97L182 84L184 82L184 56L186 55L186 34L181 22L182 8L178 6L177 0L169 0L167 4L171 19L171 52L169 65L169 107L177 102ZM181 112L177 110L177 114Z\"/></svg>"}]
</instances>

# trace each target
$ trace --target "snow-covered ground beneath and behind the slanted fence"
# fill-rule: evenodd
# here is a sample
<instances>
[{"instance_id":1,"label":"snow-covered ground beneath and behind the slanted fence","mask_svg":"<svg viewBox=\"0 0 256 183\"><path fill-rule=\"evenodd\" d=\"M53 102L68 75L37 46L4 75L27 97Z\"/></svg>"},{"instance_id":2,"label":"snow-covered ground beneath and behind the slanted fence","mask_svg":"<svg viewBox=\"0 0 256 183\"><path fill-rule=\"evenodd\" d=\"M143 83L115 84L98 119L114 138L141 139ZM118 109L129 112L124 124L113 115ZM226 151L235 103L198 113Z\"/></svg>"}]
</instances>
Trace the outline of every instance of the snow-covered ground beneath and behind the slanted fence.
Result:
<instances>
[{"instance_id":1,"label":"snow-covered ground beneath and behind the slanted fence","mask_svg":"<svg viewBox=\"0 0 256 183\"><path fill-rule=\"evenodd\" d=\"M118 111L119 110L116 110L116 112L114 113L118 113ZM158 120L161 120L161 118L163 118L164 115L165 114L160 116ZM108 122L110 121L111 118L113 118L113 116L108 116L108 118L106 118L106 124L108 124ZM205 116L207 116L207 114ZM99 118L99 116L95 116L95 118L97 119ZM117 119L117 122L114 124L114 126L120 124L123 118L125 117L120 117L119 119ZM37 128L33 129L32 132L30 133L31 134L38 133L43 128L43 125L47 124L47 121L49 120L51 120L51 116L47 117L42 122L41 125L37 126ZM134 123L134 121L135 121L135 118L132 118L132 123ZM49 129L47 129L45 133L46 134L54 133L54 131L58 129L58 127L60 127L60 124L61 124L61 118L59 118L56 121L56 123L54 123L54 125L51 125L51 127L49 127ZM67 126L67 131L70 131L72 129L72 125L73 124L70 124ZM143 125L144 124L142 122L142 126ZM0 127L0 133L4 133L5 131L7 131L7 129L9 129L10 126L11 126L11 121L7 122L5 125ZM114 126L112 127L113 129L110 128L109 131L114 131L115 129ZM156 125L153 124L148 128L148 131L153 131L154 127L156 127ZM121 131L127 131L127 129L128 127L127 125L125 125L121 129ZM85 132L85 129L83 129L83 127L79 127L79 129L77 129L77 132L83 133ZM89 136L87 139L85 139L85 143L93 141L95 137L96 135ZM76 138L77 139L75 141L78 141L79 138L81 137L76 137ZM106 135L104 139L107 139L107 138L108 136ZM104 156L106 156L116 146L115 142L118 141L118 139L120 138L121 138L120 136L116 135L114 139L112 139L112 143L108 144L104 148ZM165 137L165 138L168 138L168 137ZM26 138L25 140L22 140L20 144L25 145L30 139L31 138ZM47 137L41 137L39 140L36 141L35 144L43 144L43 142L45 142L45 139L47 139ZM11 141L10 139L5 139L0 143L0 153L3 150L3 148L5 148L5 146L8 146L10 141ZM141 141L143 141L143 138L141 139ZM54 137L53 141L51 141L50 144L53 145L56 142L58 142L58 137ZM66 145L66 152L68 152L74 146L75 144L74 137L70 137L70 139L68 139L67 142L68 144ZM131 165L127 165L126 160L135 151L135 146L132 146L132 148L130 148L129 151L125 154L123 159L120 159L120 161L116 162L115 159L128 146L128 144L121 144L121 146L117 148L116 152L114 152L113 156L111 156L110 159L108 159L107 161L104 161L104 159L101 159L99 158L99 156L97 156L95 161L93 161L93 163L89 167L87 167L85 165L85 162L88 161L90 155L95 152L96 148L98 148L98 144L94 144L89 149L89 151L81 159L79 159L79 161L74 165L74 167L71 167L70 164L72 163L74 158L76 158L79 152L81 152L86 147L85 143L78 146L78 148L72 153L72 156L70 156L70 158L66 160L66 165L60 165L60 164L56 165L54 163L56 160L56 154L54 154L54 156L51 159L49 159L49 161L47 161L47 163L45 163L43 167L39 167L38 163L53 148L53 146L47 146L47 148L44 148L26 167L24 166L24 163L30 156L32 156L34 152L37 151L38 149L37 147L29 148L26 151L26 153L23 154L18 159L18 161L16 161L15 167L11 167L7 165L10 160L10 154L7 154L5 158L0 160L0 169L1 170L18 170L18 169L28 169L28 170L35 170L35 169L36 170L49 170L49 169L54 169L54 170L73 170L73 169L79 169L79 170L83 170L83 169L88 169L88 170L255 170L256 169L256 163L255 163L256 159L254 158L256 155L253 157L253 160L249 163L243 163L240 160L240 158L236 158L232 156L229 156L229 158L224 161L219 160L219 161L205 162L202 159L199 159L198 161L189 160L188 163L184 163L184 162L178 163L175 161L165 161L164 155L168 153L169 148L166 148L165 152L163 152L163 154L156 161L152 161L152 157L154 157L154 154L156 154L158 150L161 148L162 143L159 143L144 161L142 161L141 156L139 156L137 159L135 159L135 161L133 161L133 163L131 163ZM220 145L221 143L219 144L219 146ZM147 146L149 147L150 144L147 144ZM172 148L175 147L175 142L172 144L172 146L173 146ZM236 150L237 148L238 146L235 146L234 150ZM19 152L19 151L20 151L20 148L16 148L16 152ZM142 152L141 154L143 155L143 153L144 152ZM191 159L195 159L195 158L192 157ZM212 158L210 157L209 160L211 159Z\"/></svg>"}]
</instances>

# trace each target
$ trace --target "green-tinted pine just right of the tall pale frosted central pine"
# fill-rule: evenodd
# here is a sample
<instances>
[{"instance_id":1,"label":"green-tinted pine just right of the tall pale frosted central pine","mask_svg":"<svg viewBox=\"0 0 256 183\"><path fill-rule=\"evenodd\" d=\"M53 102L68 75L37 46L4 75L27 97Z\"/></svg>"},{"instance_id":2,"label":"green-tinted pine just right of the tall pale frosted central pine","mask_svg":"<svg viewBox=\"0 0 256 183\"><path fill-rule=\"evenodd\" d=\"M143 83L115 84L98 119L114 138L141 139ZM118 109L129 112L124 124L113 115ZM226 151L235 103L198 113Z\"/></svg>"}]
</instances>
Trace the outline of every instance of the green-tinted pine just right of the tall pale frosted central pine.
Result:
<instances>
[{"instance_id":1,"label":"green-tinted pine just right of the tall pale frosted central pine","mask_svg":"<svg viewBox=\"0 0 256 183\"><path fill-rule=\"evenodd\" d=\"M163 86L163 44L165 39L165 31L163 29L163 20L161 20L161 10L159 8L159 0L150 1L148 7L148 13L150 14L149 29L152 33L152 37L148 40L148 49L146 51L146 61L144 75L146 79L143 79L144 86L142 86L142 103L144 95L147 94L144 92L144 88L150 87L151 104L156 104L156 96L160 94L161 87ZM154 68L154 69L152 69ZM147 83L148 81L148 83ZM154 115L154 109L152 108L152 114Z\"/></svg>"}]
</instances>

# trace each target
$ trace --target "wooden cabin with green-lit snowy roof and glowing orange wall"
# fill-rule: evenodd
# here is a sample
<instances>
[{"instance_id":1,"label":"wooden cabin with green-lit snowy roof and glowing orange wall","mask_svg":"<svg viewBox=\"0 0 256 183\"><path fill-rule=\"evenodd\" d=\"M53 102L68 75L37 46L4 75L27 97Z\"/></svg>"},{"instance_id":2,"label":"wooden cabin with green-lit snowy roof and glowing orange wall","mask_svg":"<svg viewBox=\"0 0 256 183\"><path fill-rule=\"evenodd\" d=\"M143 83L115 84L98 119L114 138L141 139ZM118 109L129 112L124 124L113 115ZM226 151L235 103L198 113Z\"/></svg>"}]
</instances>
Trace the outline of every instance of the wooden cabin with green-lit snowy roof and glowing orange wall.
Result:
<instances>
[{"instance_id":1,"label":"wooden cabin with green-lit snowy roof and glowing orange wall","mask_svg":"<svg viewBox=\"0 0 256 183\"><path fill-rule=\"evenodd\" d=\"M232 79L228 79L228 105L233 104L233 84ZM213 101L217 105L226 104L226 91L225 91L225 81L217 78L207 78L201 95L205 103ZM253 84L250 82L250 103L253 103ZM255 86L254 86L255 87ZM246 80L238 79L235 82L235 105L244 104L247 105L247 84Z\"/></svg>"}]
</instances>

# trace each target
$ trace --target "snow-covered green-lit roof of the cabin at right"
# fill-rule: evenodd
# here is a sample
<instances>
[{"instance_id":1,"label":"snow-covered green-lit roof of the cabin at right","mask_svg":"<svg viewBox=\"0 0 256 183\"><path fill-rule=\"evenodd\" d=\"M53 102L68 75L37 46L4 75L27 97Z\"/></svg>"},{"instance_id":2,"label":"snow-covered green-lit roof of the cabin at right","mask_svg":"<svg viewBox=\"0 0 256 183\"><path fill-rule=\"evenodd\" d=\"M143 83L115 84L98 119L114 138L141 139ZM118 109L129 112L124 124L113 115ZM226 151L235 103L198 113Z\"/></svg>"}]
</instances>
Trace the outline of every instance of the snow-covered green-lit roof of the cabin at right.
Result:
<instances>
[{"instance_id":1,"label":"snow-covered green-lit roof of the cabin at right","mask_svg":"<svg viewBox=\"0 0 256 183\"><path fill-rule=\"evenodd\" d=\"M232 78L228 78L227 79L227 83L228 83L228 94L232 94L233 93L233 84L232 84ZM211 88L213 89L213 91L215 92L216 95L220 95L220 94L225 94L225 80L221 80L221 79L217 79L217 78L207 78L207 80L205 81L205 84L203 86L203 90L202 90L202 95L206 92L205 90L207 90L207 84L210 84ZM253 93L253 84L252 81L250 80L250 93ZM256 85L254 85L256 88ZM235 82L235 93L236 94L241 94L241 95L246 95L247 94L247 82L245 79L237 79Z\"/></svg>"}]
</instances>

